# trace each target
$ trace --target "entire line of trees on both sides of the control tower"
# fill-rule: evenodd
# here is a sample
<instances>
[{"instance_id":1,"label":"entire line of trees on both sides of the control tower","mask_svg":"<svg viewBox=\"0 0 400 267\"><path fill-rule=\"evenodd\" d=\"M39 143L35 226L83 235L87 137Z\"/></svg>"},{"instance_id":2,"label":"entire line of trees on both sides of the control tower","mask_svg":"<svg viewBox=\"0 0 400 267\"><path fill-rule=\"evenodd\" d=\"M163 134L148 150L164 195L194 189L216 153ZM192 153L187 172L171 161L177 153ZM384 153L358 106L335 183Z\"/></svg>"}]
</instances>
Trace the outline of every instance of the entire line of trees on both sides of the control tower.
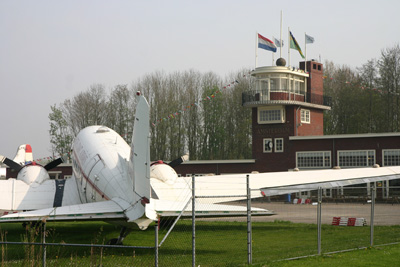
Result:
<instances>
[{"instance_id":1,"label":"entire line of trees on both sides of the control tower","mask_svg":"<svg viewBox=\"0 0 400 267\"><path fill-rule=\"evenodd\" d=\"M225 79L194 70L154 72L129 86L93 84L51 107L53 154L68 153L73 137L89 125L108 126L130 143L135 94L141 91L150 104L152 160L184 153L192 160L251 158L251 109L241 105L242 92L255 88L249 72ZM332 98L325 134L400 131L399 45L356 69L327 61L324 77L324 94Z\"/></svg>"}]
</instances>

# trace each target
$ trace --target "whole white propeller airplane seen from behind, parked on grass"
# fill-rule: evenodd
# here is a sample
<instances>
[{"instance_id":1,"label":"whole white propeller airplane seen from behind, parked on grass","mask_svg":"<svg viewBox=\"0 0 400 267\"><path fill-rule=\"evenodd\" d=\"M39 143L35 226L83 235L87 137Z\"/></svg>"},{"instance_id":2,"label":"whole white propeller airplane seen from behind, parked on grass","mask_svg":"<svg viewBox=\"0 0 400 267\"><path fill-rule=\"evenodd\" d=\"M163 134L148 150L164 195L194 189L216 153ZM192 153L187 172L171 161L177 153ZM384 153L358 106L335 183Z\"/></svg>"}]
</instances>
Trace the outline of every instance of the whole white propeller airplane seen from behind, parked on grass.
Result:
<instances>
[{"instance_id":1,"label":"whole white propeller airplane seen from behind, parked on grass","mask_svg":"<svg viewBox=\"0 0 400 267\"><path fill-rule=\"evenodd\" d=\"M0 156L0 161L19 170L16 179L0 181L0 209L19 211L0 217L0 222L104 220L122 226L120 244L138 226L163 217L191 214L190 177L178 177L173 169L186 157L165 164L150 163L150 111L147 100L138 92L132 144L105 126L83 129L72 145L73 176L50 180L46 166L21 166ZM246 207L221 204L244 199L245 175L196 178L196 216L243 216ZM301 188L340 186L400 178L400 167L260 173L250 175L251 197L286 194ZM274 191L275 190L275 191ZM222 197L224 195L236 198ZM252 208L253 215L273 215L273 211Z\"/></svg>"}]
</instances>

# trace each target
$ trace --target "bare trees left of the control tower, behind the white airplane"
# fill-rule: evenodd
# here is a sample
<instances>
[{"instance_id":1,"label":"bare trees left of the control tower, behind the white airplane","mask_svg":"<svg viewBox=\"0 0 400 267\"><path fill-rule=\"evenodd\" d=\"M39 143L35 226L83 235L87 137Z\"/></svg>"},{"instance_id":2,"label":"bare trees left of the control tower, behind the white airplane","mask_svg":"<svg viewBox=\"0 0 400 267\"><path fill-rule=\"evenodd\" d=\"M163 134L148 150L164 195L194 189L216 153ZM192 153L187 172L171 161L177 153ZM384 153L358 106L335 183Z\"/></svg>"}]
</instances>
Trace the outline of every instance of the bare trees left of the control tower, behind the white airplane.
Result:
<instances>
[{"instance_id":1,"label":"bare trees left of the control tower, behind the white airplane","mask_svg":"<svg viewBox=\"0 0 400 267\"><path fill-rule=\"evenodd\" d=\"M225 80L212 72L190 70L155 72L111 90L93 84L51 107L53 153L68 153L73 137L89 125L110 127L129 144L135 94L140 91L150 105L152 160L172 160L185 153L192 160L251 158L251 110L241 106L241 95L253 82L249 70Z\"/></svg>"}]
</instances>

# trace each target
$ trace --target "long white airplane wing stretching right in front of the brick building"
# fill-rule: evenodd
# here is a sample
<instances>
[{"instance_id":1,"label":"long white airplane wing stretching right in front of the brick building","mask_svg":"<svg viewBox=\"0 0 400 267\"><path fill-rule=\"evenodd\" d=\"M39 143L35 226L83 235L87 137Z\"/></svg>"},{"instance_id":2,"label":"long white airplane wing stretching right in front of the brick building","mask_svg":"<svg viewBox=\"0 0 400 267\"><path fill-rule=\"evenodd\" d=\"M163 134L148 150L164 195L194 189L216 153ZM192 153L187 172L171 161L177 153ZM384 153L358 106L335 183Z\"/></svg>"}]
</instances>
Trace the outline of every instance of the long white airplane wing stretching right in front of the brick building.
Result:
<instances>
[{"instance_id":1,"label":"long white airplane wing stretching right in front of the brick building","mask_svg":"<svg viewBox=\"0 0 400 267\"><path fill-rule=\"evenodd\" d=\"M202 203L220 203L246 198L246 174L200 176L195 178L196 196ZM151 185L160 200L182 201L191 195L191 177L180 177L168 185L156 179ZM332 188L374 181L400 179L400 166L250 174L251 197ZM224 197L229 196L229 197Z\"/></svg>"}]
</instances>

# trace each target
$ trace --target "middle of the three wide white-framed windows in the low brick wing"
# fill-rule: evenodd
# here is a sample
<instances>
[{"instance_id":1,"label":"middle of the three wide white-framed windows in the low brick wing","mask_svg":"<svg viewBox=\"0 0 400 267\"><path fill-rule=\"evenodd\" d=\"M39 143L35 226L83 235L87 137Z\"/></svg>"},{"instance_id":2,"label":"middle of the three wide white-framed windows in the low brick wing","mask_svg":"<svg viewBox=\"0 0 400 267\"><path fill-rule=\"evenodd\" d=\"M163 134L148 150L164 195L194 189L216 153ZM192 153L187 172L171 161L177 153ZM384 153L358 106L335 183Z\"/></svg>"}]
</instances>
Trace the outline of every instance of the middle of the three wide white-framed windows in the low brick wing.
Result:
<instances>
[{"instance_id":1,"label":"middle of the three wide white-framed windows in the low brick wing","mask_svg":"<svg viewBox=\"0 0 400 267\"><path fill-rule=\"evenodd\" d=\"M375 164L375 150L338 151L340 167L368 167Z\"/></svg>"}]
</instances>

